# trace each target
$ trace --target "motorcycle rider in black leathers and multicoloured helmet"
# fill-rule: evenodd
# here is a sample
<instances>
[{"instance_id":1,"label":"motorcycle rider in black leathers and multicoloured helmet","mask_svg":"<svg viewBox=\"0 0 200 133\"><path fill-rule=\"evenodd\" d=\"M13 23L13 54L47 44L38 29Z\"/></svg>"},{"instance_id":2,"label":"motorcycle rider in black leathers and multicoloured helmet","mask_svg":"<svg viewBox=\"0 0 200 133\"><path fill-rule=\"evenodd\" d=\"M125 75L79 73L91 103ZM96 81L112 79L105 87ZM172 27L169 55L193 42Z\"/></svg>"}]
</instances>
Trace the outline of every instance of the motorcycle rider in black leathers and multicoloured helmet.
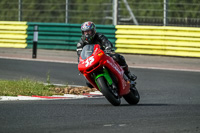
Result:
<instances>
[{"instance_id":1,"label":"motorcycle rider in black leathers and multicoloured helmet","mask_svg":"<svg viewBox=\"0 0 200 133\"><path fill-rule=\"evenodd\" d=\"M83 47L87 44L99 44L101 49L108 53L122 68L124 69L124 73L130 80L136 80L137 77L128 69L128 65L125 61L125 58L117 53L113 53L114 48L113 44L101 33L96 32L96 26L93 22L87 21L81 25L82 37L80 41L77 43L77 55L78 62L79 56Z\"/></svg>"}]
</instances>

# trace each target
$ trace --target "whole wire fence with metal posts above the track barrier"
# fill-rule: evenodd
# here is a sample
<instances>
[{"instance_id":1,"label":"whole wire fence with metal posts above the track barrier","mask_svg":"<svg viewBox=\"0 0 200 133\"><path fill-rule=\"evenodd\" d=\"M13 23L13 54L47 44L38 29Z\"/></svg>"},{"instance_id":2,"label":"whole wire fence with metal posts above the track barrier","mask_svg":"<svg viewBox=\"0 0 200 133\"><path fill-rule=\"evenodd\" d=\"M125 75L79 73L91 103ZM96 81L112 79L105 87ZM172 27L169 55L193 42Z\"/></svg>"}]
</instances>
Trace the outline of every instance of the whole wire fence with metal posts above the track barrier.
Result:
<instances>
[{"instance_id":1,"label":"whole wire fence with metal posts above the track barrier","mask_svg":"<svg viewBox=\"0 0 200 133\"><path fill-rule=\"evenodd\" d=\"M0 21L200 26L199 0L1 0L0 9Z\"/></svg>"}]
</instances>

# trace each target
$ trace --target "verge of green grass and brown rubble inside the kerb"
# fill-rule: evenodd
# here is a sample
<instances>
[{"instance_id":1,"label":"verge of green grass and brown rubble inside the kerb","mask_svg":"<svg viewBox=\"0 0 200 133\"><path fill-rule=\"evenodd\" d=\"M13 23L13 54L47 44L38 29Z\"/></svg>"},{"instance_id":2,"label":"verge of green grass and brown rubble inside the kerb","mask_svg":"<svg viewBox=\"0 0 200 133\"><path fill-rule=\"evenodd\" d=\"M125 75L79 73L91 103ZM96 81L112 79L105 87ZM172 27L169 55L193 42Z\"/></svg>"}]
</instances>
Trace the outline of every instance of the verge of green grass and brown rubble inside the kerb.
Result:
<instances>
[{"instance_id":1,"label":"verge of green grass and brown rubble inside the kerb","mask_svg":"<svg viewBox=\"0 0 200 133\"><path fill-rule=\"evenodd\" d=\"M30 79L21 80L0 80L0 96L52 96L63 94L76 94L89 93L96 91L88 87L58 87L54 85L44 85L41 82L33 81Z\"/></svg>"}]
</instances>

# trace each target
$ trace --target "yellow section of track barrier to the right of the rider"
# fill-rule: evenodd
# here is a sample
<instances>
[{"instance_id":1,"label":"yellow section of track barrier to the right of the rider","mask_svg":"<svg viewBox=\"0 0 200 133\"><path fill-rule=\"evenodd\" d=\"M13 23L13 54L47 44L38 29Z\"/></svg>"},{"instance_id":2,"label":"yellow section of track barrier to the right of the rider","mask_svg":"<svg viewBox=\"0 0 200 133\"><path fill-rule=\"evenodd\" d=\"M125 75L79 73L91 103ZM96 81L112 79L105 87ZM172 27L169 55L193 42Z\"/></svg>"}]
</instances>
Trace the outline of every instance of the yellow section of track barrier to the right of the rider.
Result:
<instances>
[{"instance_id":1,"label":"yellow section of track barrier to the right of the rider","mask_svg":"<svg viewBox=\"0 0 200 133\"><path fill-rule=\"evenodd\" d=\"M116 26L116 52L200 57L200 28Z\"/></svg>"}]
</instances>

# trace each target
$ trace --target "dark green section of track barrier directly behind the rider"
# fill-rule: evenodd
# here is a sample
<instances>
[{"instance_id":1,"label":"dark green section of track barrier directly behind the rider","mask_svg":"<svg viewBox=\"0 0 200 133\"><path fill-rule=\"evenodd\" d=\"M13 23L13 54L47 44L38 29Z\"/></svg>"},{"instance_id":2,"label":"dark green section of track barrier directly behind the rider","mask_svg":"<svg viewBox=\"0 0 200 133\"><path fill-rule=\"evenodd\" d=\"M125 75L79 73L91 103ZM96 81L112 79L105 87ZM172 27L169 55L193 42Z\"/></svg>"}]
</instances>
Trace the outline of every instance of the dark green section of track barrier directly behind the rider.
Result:
<instances>
[{"instance_id":1,"label":"dark green section of track barrier directly behind the rider","mask_svg":"<svg viewBox=\"0 0 200 133\"><path fill-rule=\"evenodd\" d=\"M76 50L81 38L81 24L28 22L27 48L33 47L34 26L38 25L38 48ZM105 34L115 44L115 26L96 25L97 32Z\"/></svg>"}]
</instances>

